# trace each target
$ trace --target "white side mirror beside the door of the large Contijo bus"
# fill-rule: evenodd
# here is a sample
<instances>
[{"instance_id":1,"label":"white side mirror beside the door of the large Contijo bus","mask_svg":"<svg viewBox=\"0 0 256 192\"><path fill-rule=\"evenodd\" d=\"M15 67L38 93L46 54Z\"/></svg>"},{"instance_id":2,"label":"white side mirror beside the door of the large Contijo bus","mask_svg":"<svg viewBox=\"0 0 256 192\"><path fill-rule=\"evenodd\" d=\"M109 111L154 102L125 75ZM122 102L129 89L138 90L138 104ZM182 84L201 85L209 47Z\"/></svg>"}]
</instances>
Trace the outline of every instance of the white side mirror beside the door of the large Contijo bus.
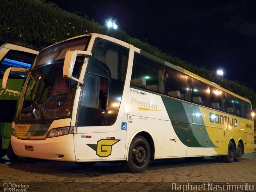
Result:
<instances>
[{"instance_id":1,"label":"white side mirror beside the door of the large Contijo bus","mask_svg":"<svg viewBox=\"0 0 256 192\"><path fill-rule=\"evenodd\" d=\"M73 70L74 70L74 65L75 65L75 62L76 62L76 57L77 57L78 54L85 55L86 58L90 58L92 56L92 53L88 52L88 51L78 51L78 50L68 51L66 53L65 60L64 60L63 78L72 79L72 80L75 80L75 81L77 81L81 84L84 84L84 82L82 80L79 80L77 78L72 77L72 73L73 73Z\"/></svg>"}]
</instances>

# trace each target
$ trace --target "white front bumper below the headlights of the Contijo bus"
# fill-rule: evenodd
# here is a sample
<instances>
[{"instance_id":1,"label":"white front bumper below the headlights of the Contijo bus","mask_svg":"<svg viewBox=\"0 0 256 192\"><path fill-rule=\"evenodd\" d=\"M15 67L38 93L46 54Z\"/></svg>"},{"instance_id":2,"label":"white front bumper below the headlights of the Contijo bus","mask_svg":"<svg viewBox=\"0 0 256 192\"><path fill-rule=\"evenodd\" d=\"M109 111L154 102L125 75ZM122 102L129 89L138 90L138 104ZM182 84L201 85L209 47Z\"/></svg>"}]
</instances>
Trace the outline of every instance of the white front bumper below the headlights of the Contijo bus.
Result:
<instances>
[{"instance_id":1,"label":"white front bumper below the headlights of the Contijo bus","mask_svg":"<svg viewBox=\"0 0 256 192\"><path fill-rule=\"evenodd\" d=\"M14 153L18 156L76 161L73 134L47 138L46 140L21 140L12 136L11 143Z\"/></svg>"}]
</instances>

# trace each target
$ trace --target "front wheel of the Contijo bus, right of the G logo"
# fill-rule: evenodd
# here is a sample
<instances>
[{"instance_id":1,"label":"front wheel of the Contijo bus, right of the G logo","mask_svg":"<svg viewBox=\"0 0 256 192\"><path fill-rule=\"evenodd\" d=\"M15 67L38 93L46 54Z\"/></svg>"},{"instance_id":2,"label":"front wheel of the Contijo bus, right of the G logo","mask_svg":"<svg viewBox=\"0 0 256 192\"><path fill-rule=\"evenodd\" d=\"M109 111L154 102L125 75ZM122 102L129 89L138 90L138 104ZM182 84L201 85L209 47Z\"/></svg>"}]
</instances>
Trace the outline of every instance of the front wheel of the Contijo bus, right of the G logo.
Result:
<instances>
[{"instance_id":1,"label":"front wheel of the Contijo bus, right of the G logo","mask_svg":"<svg viewBox=\"0 0 256 192\"><path fill-rule=\"evenodd\" d=\"M150 162L150 146L143 136L135 136L129 147L128 161L125 167L128 172L141 173L146 170Z\"/></svg>"}]
</instances>

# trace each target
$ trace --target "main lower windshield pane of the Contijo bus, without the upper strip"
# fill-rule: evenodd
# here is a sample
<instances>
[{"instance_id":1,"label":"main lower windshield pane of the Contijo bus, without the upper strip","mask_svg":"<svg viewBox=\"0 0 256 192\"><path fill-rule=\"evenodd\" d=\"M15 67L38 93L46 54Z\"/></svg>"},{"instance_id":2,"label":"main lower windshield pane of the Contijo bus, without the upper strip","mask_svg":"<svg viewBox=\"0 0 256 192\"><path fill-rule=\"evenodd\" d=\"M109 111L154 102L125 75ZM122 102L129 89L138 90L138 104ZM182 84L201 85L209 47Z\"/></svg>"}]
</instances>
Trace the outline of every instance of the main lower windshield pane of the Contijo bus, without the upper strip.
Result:
<instances>
[{"instance_id":1,"label":"main lower windshield pane of the Contijo bus, without the upper strip","mask_svg":"<svg viewBox=\"0 0 256 192\"><path fill-rule=\"evenodd\" d=\"M76 62L73 76L77 76L82 59ZM36 68L28 73L29 80L19 121L46 121L71 115L76 82L62 77L63 61Z\"/></svg>"}]
</instances>

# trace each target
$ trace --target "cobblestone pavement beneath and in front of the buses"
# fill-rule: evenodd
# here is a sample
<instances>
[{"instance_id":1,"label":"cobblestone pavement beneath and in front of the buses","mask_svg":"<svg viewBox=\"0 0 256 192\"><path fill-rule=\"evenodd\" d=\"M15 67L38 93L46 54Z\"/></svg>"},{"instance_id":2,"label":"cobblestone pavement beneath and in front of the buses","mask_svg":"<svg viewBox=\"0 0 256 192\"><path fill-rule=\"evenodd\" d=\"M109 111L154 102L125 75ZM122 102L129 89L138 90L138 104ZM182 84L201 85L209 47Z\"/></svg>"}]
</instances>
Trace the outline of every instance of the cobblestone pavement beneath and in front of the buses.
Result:
<instances>
[{"instance_id":1,"label":"cobblestone pavement beneath and in front of the buses","mask_svg":"<svg viewBox=\"0 0 256 192\"><path fill-rule=\"evenodd\" d=\"M188 162L182 158L156 160L140 174L126 173L122 164L96 163L92 167L73 162L34 160L11 163L0 159L0 191L4 183L29 185L26 191L170 191L172 182L256 182L256 153L240 162L222 163L215 158ZM254 184L254 191L255 183ZM21 189L19 188L19 189ZM16 190L17 191L17 190Z\"/></svg>"}]
</instances>

